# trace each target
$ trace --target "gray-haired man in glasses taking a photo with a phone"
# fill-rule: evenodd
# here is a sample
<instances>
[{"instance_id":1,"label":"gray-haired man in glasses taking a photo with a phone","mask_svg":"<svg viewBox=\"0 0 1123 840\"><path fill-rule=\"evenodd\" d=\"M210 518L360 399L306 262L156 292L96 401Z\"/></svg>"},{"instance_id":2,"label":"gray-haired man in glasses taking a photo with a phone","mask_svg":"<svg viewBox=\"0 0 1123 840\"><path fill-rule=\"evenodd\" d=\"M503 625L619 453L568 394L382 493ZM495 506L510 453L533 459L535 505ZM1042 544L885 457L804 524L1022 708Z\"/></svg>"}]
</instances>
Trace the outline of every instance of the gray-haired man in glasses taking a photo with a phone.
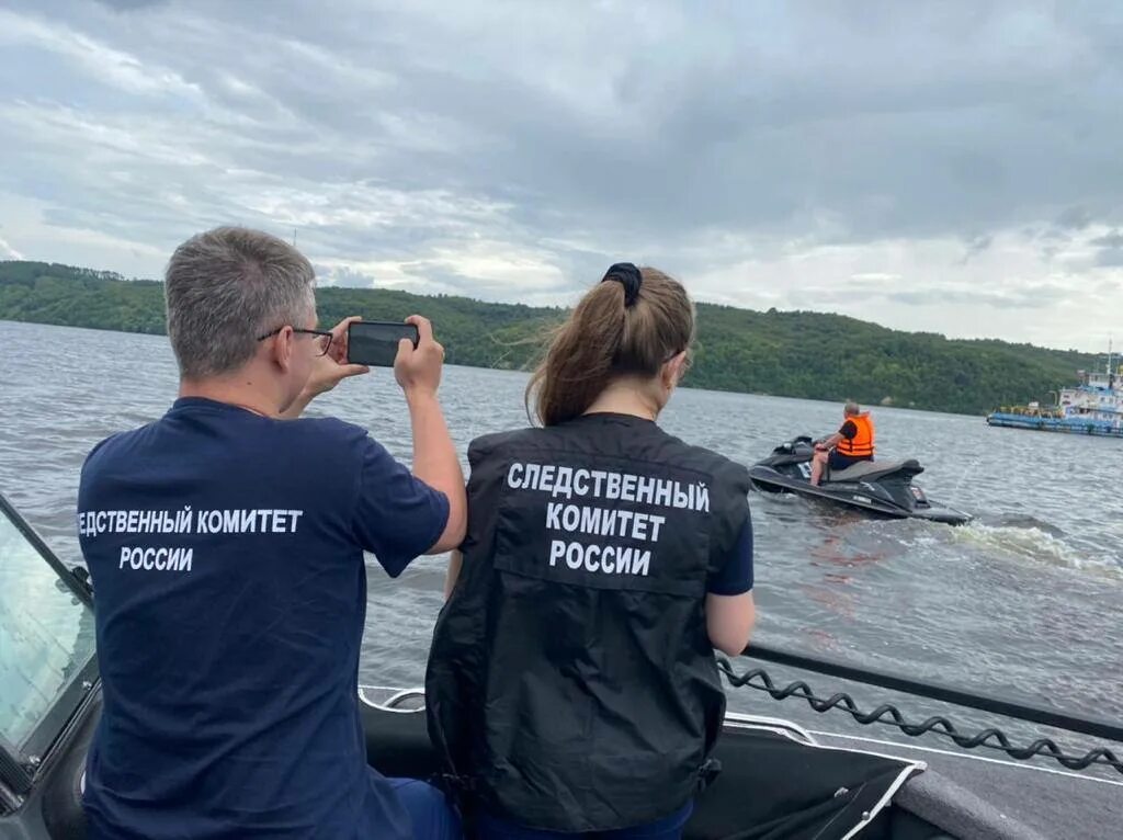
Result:
<instances>
[{"instance_id":1,"label":"gray-haired man in glasses taking a photo with a phone","mask_svg":"<svg viewBox=\"0 0 1123 840\"><path fill-rule=\"evenodd\" d=\"M219 228L167 266L180 399L99 444L79 530L97 593L104 709L86 770L91 838L439 837L442 797L366 765L359 646L371 551L391 576L456 547L464 478L429 322L394 376L413 473L364 429L296 419L367 369L317 327L311 264Z\"/></svg>"}]
</instances>

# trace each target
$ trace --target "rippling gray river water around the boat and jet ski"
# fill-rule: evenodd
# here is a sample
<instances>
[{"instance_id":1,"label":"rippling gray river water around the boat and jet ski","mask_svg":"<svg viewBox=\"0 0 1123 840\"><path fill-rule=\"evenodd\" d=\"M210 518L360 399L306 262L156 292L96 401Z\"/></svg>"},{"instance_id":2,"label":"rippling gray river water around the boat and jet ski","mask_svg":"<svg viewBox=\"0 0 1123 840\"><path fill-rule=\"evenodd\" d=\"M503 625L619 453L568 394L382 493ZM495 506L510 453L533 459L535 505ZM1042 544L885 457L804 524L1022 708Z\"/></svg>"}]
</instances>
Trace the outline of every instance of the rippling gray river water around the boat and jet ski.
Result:
<instances>
[{"instance_id":1,"label":"rippling gray river water around the boat and jet ski","mask_svg":"<svg viewBox=\"0 0 1123 840\"><path fill-rule=\"evenodd\" d=\"M64 560L75 563L82 460L100 439L166 410L176 389L171 349L163 337L6 321L0 348L0 492ZM526 380L465 367L445 372L441 400L462 457L475 436L526 423ZM387 371L343 383L310 413L363 424L409 459L404 403ZM751 464L795 435L833 431L840 414L834 403L684 389L660 422L687 441ZM902 409L875 416L879 455L917 458L926 468L917 484L929 496L974 513L976 522L870 521L823 503L754 493L756 638L1123 718L1123 441L990 429L978 417ZM444 566L444 558L422 558L391 581L369 564L363 682L420 684ZM782 682L795 676L768 670ZM828 696L840 685L807 679ZM894 696L856 693L869 707ZM820 729L849 725L839 713L828 721L802 702L776 704L757 692L734 692L730 705ZM921 719L944 711L916 701L904 706ZM885 729L865 733L892 737ZM1079 738L1075 743L1087 746Z\"/></svg>"}]
</instances>

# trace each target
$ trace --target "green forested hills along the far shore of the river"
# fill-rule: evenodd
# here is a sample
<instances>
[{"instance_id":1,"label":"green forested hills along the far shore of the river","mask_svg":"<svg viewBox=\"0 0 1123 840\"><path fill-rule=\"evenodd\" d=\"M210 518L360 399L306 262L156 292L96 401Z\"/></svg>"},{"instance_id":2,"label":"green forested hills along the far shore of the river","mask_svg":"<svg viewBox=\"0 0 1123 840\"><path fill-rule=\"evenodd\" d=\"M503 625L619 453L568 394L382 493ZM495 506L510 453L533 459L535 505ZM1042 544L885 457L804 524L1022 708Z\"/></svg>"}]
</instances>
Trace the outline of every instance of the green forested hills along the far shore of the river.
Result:
<instances>
[{"instance_id":1,"label":"green forested hills along the far shore of the river","mask_svg":"<svg viewBox=\"0 0 1123 840\"><path fill-rule=\"evenodd\" d=\"M317 290L320 320L348 314L436 325L449 364L528 369L565 310L484 303L385 289ZM903 332L846 316L700 303L699 340L685 385L716 391L856 400L933 411L984 413L1048 402L1078 368L1101 364L1075 350ZM164 332L163 284L112 272L0 262L0 319L126 332Z\"/></svg>"}]
</instances>

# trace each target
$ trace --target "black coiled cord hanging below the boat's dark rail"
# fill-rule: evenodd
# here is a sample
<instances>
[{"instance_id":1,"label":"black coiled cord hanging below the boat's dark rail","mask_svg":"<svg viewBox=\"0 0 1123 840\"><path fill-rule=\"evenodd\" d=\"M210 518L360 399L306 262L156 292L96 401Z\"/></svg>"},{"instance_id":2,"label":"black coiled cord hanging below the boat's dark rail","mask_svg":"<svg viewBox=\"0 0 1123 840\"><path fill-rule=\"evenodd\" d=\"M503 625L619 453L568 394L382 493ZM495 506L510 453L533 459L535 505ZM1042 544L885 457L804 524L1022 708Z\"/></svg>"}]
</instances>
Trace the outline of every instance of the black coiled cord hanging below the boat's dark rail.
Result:
<instances>
[{"instance_id":1,"label":"black coiled cord hanging below the boat's dark rail","mask_svg":"<svg viewBox=\"0 0 1123 840\"><path fill-rule=\"evenodd\" d=\"M773 700L798 697L807 701L807 704L820 713L830 711L831 709L841 709L864 725L885 723L896 727L905 734L914 738L933 732L950 738L962 749L985 747L987 749L999 750L1011 758L1019 760L1026 760L1035 756L1046 756L1054 759L1070 770L1083 770L1092 765L1105 765L1123 773L1123 760L1112 750L1104 747L1089 750L1079 757L1066 755L1049 738L1040 738L1028 747L1015 747L1006 734L998 729L984 729L973 736L967 736L956 729L955 724L947 718L941 716L929 718L922 723L909 723L897 707L891 703L883 703L871 712L862 712L858 709L853 699L844 692L838 692L825 699L819 697L814 694L811 686L802 679L788 683L783 688L777 688L764 668L752 668L743 674L737 674L733 670L733 666L724 657L719 657L718 667L725 675L730 685L734 687L741 688L748 686L749 688L767 692Z\"/></svg>"}]
</instances>

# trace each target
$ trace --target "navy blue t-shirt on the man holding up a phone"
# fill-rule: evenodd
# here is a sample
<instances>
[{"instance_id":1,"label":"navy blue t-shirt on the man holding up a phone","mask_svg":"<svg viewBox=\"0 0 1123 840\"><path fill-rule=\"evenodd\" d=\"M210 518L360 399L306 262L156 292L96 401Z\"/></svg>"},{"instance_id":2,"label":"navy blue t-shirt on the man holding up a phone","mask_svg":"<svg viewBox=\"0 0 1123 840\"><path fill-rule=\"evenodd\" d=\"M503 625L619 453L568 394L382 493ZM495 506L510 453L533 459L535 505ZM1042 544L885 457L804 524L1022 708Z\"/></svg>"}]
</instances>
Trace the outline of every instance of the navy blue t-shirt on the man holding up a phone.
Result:
<instances>
[{"instance_id":1,"label":"navy blue t-shirt on the man holding up a phone","mask_svg":"<svg viewBox=\"0 0 1123 840\"><path fill-rule=\"evenodd\" d=\"M366 764L363 551L399 575L447 520L338 420L192 398L99 444L79 490L104 696L90 837L408 837Z\"/></svg>"}]
</instances>

